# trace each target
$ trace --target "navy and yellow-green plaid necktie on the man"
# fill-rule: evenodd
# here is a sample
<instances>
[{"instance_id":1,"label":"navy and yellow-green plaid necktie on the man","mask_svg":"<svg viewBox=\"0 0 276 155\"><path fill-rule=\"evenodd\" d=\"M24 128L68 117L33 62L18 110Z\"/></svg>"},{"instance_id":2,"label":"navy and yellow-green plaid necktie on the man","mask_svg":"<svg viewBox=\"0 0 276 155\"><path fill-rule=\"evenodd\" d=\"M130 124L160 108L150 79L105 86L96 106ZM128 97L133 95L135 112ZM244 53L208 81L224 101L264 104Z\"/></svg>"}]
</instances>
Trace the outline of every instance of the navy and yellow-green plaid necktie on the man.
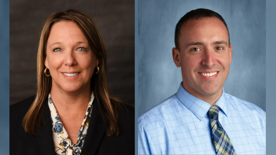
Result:
<instances>
[{"instance_id":1,"label":"navy and yellow-green plaid necktie on the man","mask_svg":"<svg viewBox=\"0 0 276 155\"><path fill-rule=\"evenodd\" d=\"M236 154L227 133L223 130L221 123L218 121L218 110L219 107L213 105L208 111L216 154Z\"/></svg>"}]
</instances>

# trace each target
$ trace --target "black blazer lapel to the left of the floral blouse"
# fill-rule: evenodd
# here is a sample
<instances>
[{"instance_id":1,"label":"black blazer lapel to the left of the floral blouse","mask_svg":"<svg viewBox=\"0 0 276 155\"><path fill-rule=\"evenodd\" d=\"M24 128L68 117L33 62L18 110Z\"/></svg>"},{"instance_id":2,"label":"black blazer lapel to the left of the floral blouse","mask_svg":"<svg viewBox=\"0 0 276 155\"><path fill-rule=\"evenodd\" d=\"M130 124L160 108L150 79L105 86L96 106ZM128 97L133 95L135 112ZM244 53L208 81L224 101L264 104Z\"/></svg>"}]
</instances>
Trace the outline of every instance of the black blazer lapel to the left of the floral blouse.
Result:
<instances>
[{"instance_id":1,"label":"black blazer lapel to the left of the floral blouse","mask_svg":"<svg viewBox=\"0 0 276 155\"><path fill-rule=\"evenodd\" d=\"M55 148L52 135L52 123L50 109L48 106L48 98L44 102L43 106L43 126L36 127L37 132L37 142L39 145L39 150L41 155L55 155ZM44 119L44 121L43 121Z\"/></svg>"}]
</instances>

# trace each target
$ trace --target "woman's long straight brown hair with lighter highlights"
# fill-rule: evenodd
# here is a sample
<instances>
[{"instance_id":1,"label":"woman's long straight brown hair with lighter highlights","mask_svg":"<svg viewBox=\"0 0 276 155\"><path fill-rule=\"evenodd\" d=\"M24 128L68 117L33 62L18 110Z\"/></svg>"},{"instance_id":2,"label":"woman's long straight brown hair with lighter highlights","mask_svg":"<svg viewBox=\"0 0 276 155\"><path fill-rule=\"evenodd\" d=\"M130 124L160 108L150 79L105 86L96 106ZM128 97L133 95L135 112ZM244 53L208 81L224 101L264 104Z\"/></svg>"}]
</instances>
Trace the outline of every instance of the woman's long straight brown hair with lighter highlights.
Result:
<instances>
[{"instance_id":1,"label":"woman's long straight brown hair with lighter highlights","mask_svg":"<svg viewBox=\"0 0 276 155\"><path fill-rule=\"evenodd\" d=\"M28 112L23 119L23 127L25 132L36 135L35 127L41 126L41 113L43 113L43 104L45 98L51 89L51 76L44 74L44 61L46 57L46 45L49 38L51 26L60 21L71 21L78 25L87 39L93 53L99 60L99 73L94 74L91 78L91 90L94 91L95 97L99 103L102 116L106 117L107 135L118 135L118 108L120 100L112 96L107 89L106 84L106 50L104 42L93 21L89 16L76 10L67 10L66 12L52 13L46 20L41 32L39 48L37 54L37 93L36 98L30 106Z\"/></svg>"}]
</instances>

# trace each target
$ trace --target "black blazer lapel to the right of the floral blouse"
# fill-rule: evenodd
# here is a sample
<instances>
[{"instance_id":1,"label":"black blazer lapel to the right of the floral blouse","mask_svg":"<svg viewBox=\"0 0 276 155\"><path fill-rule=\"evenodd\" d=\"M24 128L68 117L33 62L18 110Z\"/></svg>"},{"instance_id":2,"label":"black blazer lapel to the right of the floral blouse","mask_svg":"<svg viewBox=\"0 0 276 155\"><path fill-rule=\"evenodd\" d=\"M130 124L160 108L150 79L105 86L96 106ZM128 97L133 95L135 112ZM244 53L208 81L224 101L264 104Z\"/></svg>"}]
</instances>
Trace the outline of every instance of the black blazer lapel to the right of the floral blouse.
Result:
<instances>
[{"instance_id":1,"label":"black blazer lapel to the right of the floral blouse","mask_svg":"<svg viewBox=\"0 0 276 155\"><path fill-rule=\"evenodd\" d=\"M84 145L81 150L82 155L94 155L99 147L99 144L106 134L106 123L99 111L99 104L97 98L93 100L93 109L91 112L91 119L85 137Z\"/></svg>"}]
</instances>

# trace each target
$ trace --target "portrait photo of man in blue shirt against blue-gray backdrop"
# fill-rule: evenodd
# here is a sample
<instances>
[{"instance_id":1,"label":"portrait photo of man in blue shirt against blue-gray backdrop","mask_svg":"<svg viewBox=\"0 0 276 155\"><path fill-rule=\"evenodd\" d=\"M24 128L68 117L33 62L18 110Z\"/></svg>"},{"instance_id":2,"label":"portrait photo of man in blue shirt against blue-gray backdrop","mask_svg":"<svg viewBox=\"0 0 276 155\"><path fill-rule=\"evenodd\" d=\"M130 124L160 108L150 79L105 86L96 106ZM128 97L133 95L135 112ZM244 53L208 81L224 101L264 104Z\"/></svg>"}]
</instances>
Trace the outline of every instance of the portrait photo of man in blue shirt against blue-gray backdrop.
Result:
<instances>
[{"instance_id":1,"label":"portrait photo of man in blue shirt against blue-gray backdrop","mask_svg":"<svg viewBox=\"0 0 276 155\"><path fill-rule=\"evenodd\" d=\"M266 2L135 7L138 154L266 154Z\"/></svg>"}]
</instances>

